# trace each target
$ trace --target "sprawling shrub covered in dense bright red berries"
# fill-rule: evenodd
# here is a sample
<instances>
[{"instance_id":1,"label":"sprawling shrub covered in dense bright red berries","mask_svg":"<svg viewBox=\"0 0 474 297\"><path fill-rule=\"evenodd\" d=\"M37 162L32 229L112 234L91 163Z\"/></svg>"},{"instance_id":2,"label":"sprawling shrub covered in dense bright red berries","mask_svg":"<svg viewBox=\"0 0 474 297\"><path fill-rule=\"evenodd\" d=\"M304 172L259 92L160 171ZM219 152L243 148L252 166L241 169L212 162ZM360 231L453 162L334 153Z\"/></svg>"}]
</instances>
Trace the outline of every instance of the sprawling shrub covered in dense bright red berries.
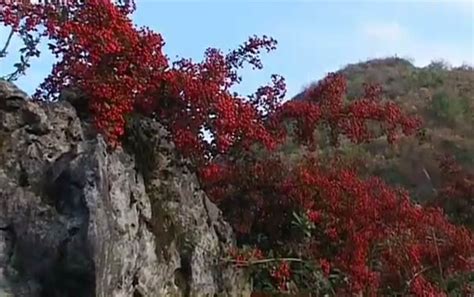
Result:
<instances>
[{"instance_id":1,"label":"sprawling shrub covered in dense bright red berries","mask_svg":"<svg viewBox=\"0 0 474 297\"><path fill-rule=\"evenodd\" d=\"M418 132L420 120L383 101L379 87L366 85L361 98L346 103L345 78L329 74L304 100L282 103L285 82L274 75L244 97L232 92L239 69L261 68L260 53L275 49L274 39L253 36L227 54L208 49L200 62L170 62L161 35L136 28L129 18L134 4L124 3L74 0L67 13L7 4L0 20L20 36L36 32L50 40L58 61L35 97L55 100L66 87L81 90L112 147L120 145L131 113L167 126L234 227L240 253L245 246L259 251L232 256L261 267L254 271L259 289L388 296L408 287L414 296L446 296L445 281L473 269L472 230L450 223L440 209L416 205L380 179L362 179L337 158L326 164L309 153L294 162L280 151L289 137L311 151L318 129L333 145L382 135L391 143Z\"/></svg>"}]
</instances>

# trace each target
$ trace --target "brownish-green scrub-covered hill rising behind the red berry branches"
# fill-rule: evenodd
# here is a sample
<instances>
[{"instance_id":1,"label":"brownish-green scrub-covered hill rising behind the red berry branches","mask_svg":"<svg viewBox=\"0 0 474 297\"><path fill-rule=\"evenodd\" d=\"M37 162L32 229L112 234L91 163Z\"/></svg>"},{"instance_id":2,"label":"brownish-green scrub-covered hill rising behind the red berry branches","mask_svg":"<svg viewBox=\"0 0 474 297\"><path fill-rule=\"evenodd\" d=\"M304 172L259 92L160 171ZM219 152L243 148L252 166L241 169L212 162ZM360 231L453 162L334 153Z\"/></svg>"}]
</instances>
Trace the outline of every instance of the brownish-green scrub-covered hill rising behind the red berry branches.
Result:
<instances>
[{"instance_id":1,"label":"brownish-green scrub-covered hill rising behind the red berry branches","mask_svg":"<svg viewBox=\"0 0 474 297\"><path fill-rule=\"evenodd\" d=\"M432 62L418 68L405 59L385 58L350 64L338 73L347 79L347 100L362 96L364 83L377 83L385 100L395 101L424 122L424 135L402 138L395 146L381 138L362 146L347 143L339 148L348 158L363 159L368 173L409 189L415 199L426 200L441 186L440 156L452 155L464 169L474 170L472 67L452 68L444 62ZM302 99L304 93L294 100Z\"/></svg>"}]
</instances>

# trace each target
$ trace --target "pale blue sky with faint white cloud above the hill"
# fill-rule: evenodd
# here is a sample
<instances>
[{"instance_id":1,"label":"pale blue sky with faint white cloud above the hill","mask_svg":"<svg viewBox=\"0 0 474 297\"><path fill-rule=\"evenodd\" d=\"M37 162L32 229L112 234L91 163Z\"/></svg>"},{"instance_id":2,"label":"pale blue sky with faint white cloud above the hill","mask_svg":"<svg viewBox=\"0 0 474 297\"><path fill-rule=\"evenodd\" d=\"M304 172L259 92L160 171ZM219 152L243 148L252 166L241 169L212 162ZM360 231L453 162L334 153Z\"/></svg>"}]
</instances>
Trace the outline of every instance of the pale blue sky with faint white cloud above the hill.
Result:
<instances>
[{"instance_id":1,"label":"pale blue sky with faint white cloud above the hill","mask_svg":"<svg viewBox=\"0 0 474 297\"><path fill-rule=\"evenodd\" d=\"M349 63L397 55L424 66L444 59L474 65L474 0L464 1L160 1L137 0L139 26L162 33L165 52L199 60L207 47L235 48L248 36L276 38L264 69L245 71L237 91L252 93L273 73L288 84L288 96ZM7 31L0 29L0 44ZM0 74L16 57L17 44L0 61ZM17 83L32 93L51 70L45 54Z\"/></svg>"}]
</instances>

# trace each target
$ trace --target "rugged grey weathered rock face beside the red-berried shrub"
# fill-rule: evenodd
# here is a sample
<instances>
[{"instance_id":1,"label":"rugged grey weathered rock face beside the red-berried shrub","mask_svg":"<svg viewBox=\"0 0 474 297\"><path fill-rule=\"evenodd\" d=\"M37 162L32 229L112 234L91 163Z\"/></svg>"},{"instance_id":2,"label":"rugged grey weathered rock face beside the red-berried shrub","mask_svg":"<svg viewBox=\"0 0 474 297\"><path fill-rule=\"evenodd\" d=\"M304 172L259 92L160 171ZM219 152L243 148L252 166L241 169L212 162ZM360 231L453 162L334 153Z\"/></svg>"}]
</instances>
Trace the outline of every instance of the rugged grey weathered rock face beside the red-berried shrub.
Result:
<instances>
[{"instance_id":1,"label":"rugged grey weathered rock face beside the red-berried shrub","mask_svg":"<svg viewBox=\"0 0 474 297\"><path fill-rule=\"evenodd\" d=\"M70 103L27 99L0 81L0 296L250 295L160 124L131 121L135 153L111 152Z\"/></svg>"}]
</instances>

